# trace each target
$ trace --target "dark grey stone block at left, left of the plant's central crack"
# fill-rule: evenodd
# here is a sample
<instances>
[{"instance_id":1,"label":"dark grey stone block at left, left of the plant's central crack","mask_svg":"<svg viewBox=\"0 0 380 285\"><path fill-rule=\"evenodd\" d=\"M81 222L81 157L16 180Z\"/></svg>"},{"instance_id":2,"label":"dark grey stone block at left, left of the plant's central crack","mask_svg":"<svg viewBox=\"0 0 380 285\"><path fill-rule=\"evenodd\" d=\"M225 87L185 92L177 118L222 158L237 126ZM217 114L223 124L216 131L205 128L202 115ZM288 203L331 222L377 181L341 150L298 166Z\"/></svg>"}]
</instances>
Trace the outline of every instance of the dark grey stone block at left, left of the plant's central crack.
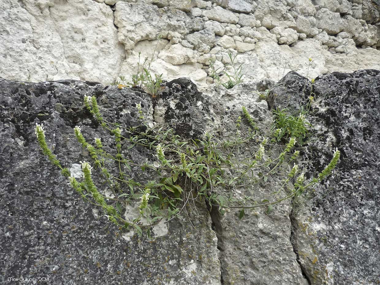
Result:
<instances>
[{"instance_id":1,"label":"dark grey stone block at left, left of the plant's central crack","mask_svg":"<svg viewBox=\"0 0 380 285\"><path fill-rule=\"evenodd\" d=\"M153 120L149 95L70 80L34 84L0 79L0 86L0 283L8 277L49 277L49 284L220 284L217 238L206 205L198 205L199 215L190 212L195 228L184 215L154 229L151 241L117 236L117 228L78 199L36 144L33 125L43 122L47 144L63 165L89 160L73 136L74 125L82 125L87 138L113 142L83 108L84 95L97 96L102 114L126 126L136 125L139 102ZM188 79L168 86L176 98L193 98L197 92ZM185 99L184 104L193 102ZM143 149L125 149L125 155L140 163L156 159ZM132 173L134 179L154 179L152 173Z\"/></svg>"}]
</instances>

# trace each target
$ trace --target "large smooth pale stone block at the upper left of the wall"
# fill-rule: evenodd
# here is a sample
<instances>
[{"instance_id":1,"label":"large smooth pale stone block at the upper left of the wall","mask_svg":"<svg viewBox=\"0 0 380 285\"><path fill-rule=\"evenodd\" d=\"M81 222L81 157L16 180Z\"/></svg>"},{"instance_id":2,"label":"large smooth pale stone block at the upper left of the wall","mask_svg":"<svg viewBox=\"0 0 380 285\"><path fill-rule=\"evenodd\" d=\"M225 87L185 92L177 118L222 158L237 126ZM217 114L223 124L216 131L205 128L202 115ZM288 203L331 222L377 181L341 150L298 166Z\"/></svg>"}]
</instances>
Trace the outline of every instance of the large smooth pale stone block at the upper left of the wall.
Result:
<instances>
[{"instance_id":1,"label":"large smooth pale stone block at the upper left of the wall","mask_svg":"<svg viewBox=\"0 0 380 285\"><path fill-rule=\"evenodd\" d=\"M4 0L0 11L1 77L111 83L118 75L125 52L104 3Z\"/></svg>"}]
</instances>

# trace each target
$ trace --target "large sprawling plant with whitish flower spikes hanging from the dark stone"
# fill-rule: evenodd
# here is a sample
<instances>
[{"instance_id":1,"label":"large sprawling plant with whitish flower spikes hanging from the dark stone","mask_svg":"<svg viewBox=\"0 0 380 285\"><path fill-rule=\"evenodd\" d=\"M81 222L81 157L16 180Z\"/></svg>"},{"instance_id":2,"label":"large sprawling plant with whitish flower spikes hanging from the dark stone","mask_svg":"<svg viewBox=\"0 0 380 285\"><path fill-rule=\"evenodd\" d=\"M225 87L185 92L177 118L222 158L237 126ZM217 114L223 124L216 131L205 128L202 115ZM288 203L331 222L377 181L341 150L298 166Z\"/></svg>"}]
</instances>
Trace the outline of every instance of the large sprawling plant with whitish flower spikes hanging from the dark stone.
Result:
<instances>
[{"instance_id":1,"label":"large sprawling plant with whitish flower spikes hanging from the dark stone","mask_svg":"<svg viewBox=\"0 0 380 285\"><path fill-rule=\"evenodd\" d=\"M78 178L81 180L71 176L67 168L62 168L58 158L52 154L42 124L35 127L38 144L47 159L61 170L63 176L68 177L68 184L80 197L95 207L101 207L109 221L120 230L133 230L138 234L146 231L149 236L152 227L169 222L182 212L187 215L189 211L197 212L199 205L204 203L217 207L221 213L228 208L241 209L240 218L244 217L247 209L256 207L267 207L269 213L274 204L301 196L308 188L325 179L339 160L340 153L336 150L318 178L306 183L304 173L298 174L299 151L294 151L297 137L290 137L283 150L274 157L274 145L269 144L268 139L261 138L258 131L251 131L251 128L257 127L245 107L241 114L245 120L239 116L236 137L231 140L223 141L207 133L202 139L185 141L173 129L150 127L140 104L136 104L141 122L137 127L107 121L100 114L94 96L85 96L84 106L114 137L115 149L106 151L101 138L86 140L82 127L74 127L74 136L92 160L91 164L81 161L82 177ZM242 124L247 124L249 128L244 136L244 131L238 131ZM237 158L239 147L248 149L254 142L258 144L249 157ZM138 164L128 160L128 151L134 147L149 150L155 157L154 161ZM290 162L294 166L287 170ZM148 181L133 179L138 169L147 171L149 177L155 178ZM96 186L93 175L96 175L95 181L101 190ZM272 179L282 179L282 186L276 189L272 198L261 201L256 201L253 196L233 198L239 187L252 187L259 182L271 183ZM113 194L107 196L105 193ZM282 193L287 195L279 197ZM127 207L138 210L138 217L133 220L125 218Z\"/></svg>"}]
</instances>

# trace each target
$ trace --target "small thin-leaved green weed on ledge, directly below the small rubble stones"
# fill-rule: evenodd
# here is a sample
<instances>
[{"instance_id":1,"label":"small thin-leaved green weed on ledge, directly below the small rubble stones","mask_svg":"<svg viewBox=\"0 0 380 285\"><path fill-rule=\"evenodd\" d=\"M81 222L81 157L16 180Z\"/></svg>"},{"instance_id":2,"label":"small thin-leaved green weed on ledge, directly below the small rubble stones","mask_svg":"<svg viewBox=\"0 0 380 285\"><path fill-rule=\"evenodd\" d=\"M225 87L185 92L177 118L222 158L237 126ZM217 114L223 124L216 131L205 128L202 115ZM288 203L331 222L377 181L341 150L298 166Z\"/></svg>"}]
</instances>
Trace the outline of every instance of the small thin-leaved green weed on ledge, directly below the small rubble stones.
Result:
<instances>
[{"instance_id":1,"label":"small thin-leaved green weed on ledge, directly below the small rubble stones","mask_svg":"<svg viewBox=\"0 0 380 285\"><path fill-rule=\"evenodd\" d=\"M219 67L216 69L215 69L215 59L213 59L213 58L209 59L209 66L211 68L210 76L214 80L216 80L218 84L222 85L226 89L231 89L236 84L239 84L242 82L242 76L243 76L242 66L243 66L243 63L239 66L236 66L236 63L235 63L236 56L237 56L237 54L235 56L233 56L232 53L228 53L228 57L230 58L231 63L226 63L222 67ZM227 76L228 81L226 83L222 83L220 81L220 76L219 76L220 71L219 70L224 69L226 67L231 67L231 69L233 70L233 73L229 74L226 71L223 71L222 73Z\"/></svg>"}]
</instances>

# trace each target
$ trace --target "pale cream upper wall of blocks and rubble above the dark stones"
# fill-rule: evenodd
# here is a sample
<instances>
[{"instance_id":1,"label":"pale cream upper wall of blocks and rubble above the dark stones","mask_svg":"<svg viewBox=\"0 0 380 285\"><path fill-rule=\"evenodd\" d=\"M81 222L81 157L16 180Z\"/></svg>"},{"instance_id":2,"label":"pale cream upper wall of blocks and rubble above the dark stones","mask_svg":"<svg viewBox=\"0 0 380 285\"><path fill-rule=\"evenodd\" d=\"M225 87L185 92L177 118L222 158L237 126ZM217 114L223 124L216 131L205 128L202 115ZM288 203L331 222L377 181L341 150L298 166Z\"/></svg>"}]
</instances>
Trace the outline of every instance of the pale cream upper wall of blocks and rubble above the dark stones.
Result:
<instances>
[{"instance_id":1,"label":"pale cream upper wall of blocks and rubble above the dark stones","mask_svg":"<svg viewBox=\"0 0 380 285\"><path fill-rule=\"evenodd\" d=\"M278 80L288 71L380 69L378 0L3 0L0 77L130 78L151 57L163 78L210 84L209 58L228 52L245 81ZM314 61L309 67L309 58ZM222 71L222 69L220 70ZM223 78L222 78L223 79ZM223 79L225 80L225 78Z\"/></svg>"}]
</instances>

